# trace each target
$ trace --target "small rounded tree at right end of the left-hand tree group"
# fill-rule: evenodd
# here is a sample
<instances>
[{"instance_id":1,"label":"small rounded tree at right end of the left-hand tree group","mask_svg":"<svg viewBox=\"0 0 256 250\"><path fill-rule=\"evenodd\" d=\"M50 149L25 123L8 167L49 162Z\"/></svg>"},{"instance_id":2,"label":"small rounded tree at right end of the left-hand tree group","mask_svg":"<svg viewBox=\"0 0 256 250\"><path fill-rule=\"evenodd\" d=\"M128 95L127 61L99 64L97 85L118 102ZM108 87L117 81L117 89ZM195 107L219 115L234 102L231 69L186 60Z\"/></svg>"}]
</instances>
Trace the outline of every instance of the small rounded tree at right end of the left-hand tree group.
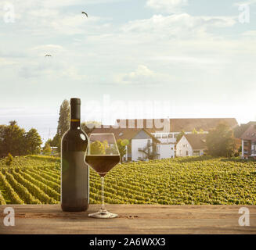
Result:
<instances>
[{"instance_id":1,"label":"small rounded tree at right end of the left-hand tree group","mask_svg":"<svg viewBox=\"0 0 256 250\"><path fill-rule=\"evenodd\" d=\"M38 130L31 128L25 135L27 154L37 155L41 152L41 137Z\"/></svg>"}]
</instances>

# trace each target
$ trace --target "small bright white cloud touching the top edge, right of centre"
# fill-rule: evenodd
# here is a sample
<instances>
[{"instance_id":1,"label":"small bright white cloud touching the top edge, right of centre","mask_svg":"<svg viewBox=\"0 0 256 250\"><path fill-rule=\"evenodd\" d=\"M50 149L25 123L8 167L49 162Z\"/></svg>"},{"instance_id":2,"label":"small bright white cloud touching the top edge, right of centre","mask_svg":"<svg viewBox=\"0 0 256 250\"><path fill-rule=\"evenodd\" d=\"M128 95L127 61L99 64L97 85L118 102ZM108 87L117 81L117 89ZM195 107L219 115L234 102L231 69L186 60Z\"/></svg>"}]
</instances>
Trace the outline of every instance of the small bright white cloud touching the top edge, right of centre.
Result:
<instances>
[{"instance_id":1,"label":"small bright white cloud touching the top edge, right of centre","mask_svg":"<svg viewBox=\"0 0 256 250\"><path fill-rule=\"evenodd\" d=\"M146 5L163 13L177 13L187 5L187 0L148 0Z\"/></svg>"}]
</instances>

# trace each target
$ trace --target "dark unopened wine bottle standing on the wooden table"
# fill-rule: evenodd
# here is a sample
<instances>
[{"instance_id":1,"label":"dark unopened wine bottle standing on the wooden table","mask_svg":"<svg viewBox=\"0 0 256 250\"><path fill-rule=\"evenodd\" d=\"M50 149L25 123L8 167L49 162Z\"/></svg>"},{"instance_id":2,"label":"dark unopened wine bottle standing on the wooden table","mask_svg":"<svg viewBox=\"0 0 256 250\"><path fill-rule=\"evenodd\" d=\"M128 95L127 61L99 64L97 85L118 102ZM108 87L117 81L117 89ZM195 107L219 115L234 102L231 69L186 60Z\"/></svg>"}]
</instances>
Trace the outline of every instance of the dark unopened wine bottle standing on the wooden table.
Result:
<instances>
[{"instance_id":1,"label":"dark unopened wine bottle standing on the wooden table","mask_svg":"<svg viewBox=\"0 0 256 250\"><path fill-rule=\"evenodd\" d=\"M81 100L70 99L70 130L61 141L61 208L64 212L88 209L88 165L85 150L88 136L81 130Z\"/></svg>"}]
</instances>

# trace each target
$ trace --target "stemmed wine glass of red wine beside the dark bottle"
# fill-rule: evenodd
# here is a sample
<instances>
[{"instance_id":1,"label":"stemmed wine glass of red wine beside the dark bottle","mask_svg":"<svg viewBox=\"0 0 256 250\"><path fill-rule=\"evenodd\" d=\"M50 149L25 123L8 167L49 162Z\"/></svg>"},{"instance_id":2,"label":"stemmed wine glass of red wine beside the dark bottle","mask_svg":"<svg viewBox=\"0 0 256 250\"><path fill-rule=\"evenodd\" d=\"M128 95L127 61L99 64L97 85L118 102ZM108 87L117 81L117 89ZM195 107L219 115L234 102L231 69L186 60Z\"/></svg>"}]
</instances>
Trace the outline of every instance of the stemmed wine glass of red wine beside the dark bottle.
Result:
<instances>
[{"instance_id":1,"label":"stemmed wine glass of red wine beside the dark bottle","mask_svg":"<svg viewBox=\"0 0 256 250\"><path fill-rule=\"evenodd\" d=\"M85 152L85 162L92 166L101 177L101 208L88 216L94 218L114 218L117 214L106 211L104 204L104 177L120 162L120 154L114 134L91 134Z\"/></svg>"}]
</instances>

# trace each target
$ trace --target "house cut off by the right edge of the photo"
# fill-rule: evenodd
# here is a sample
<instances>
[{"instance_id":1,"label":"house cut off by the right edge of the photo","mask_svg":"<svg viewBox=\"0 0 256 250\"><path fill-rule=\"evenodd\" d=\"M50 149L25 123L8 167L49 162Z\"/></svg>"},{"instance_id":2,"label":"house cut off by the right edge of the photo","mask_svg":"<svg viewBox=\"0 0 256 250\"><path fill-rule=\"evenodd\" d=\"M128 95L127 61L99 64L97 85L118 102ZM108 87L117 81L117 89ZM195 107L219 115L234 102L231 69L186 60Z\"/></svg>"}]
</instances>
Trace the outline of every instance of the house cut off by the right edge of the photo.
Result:
<instances>
[{"instance_id":1,"label":"house cut off by the right edge of the photo","mask_svg":"<svg viewBox=\"0 0 256 250\"><path fill-rule=\"evenodd\" d=\"M242 155L243 159L253 157L256 159L256 122L247 123L247 129L243 131L240 139L242 140Z\"/></svg>"}]
</instances>

